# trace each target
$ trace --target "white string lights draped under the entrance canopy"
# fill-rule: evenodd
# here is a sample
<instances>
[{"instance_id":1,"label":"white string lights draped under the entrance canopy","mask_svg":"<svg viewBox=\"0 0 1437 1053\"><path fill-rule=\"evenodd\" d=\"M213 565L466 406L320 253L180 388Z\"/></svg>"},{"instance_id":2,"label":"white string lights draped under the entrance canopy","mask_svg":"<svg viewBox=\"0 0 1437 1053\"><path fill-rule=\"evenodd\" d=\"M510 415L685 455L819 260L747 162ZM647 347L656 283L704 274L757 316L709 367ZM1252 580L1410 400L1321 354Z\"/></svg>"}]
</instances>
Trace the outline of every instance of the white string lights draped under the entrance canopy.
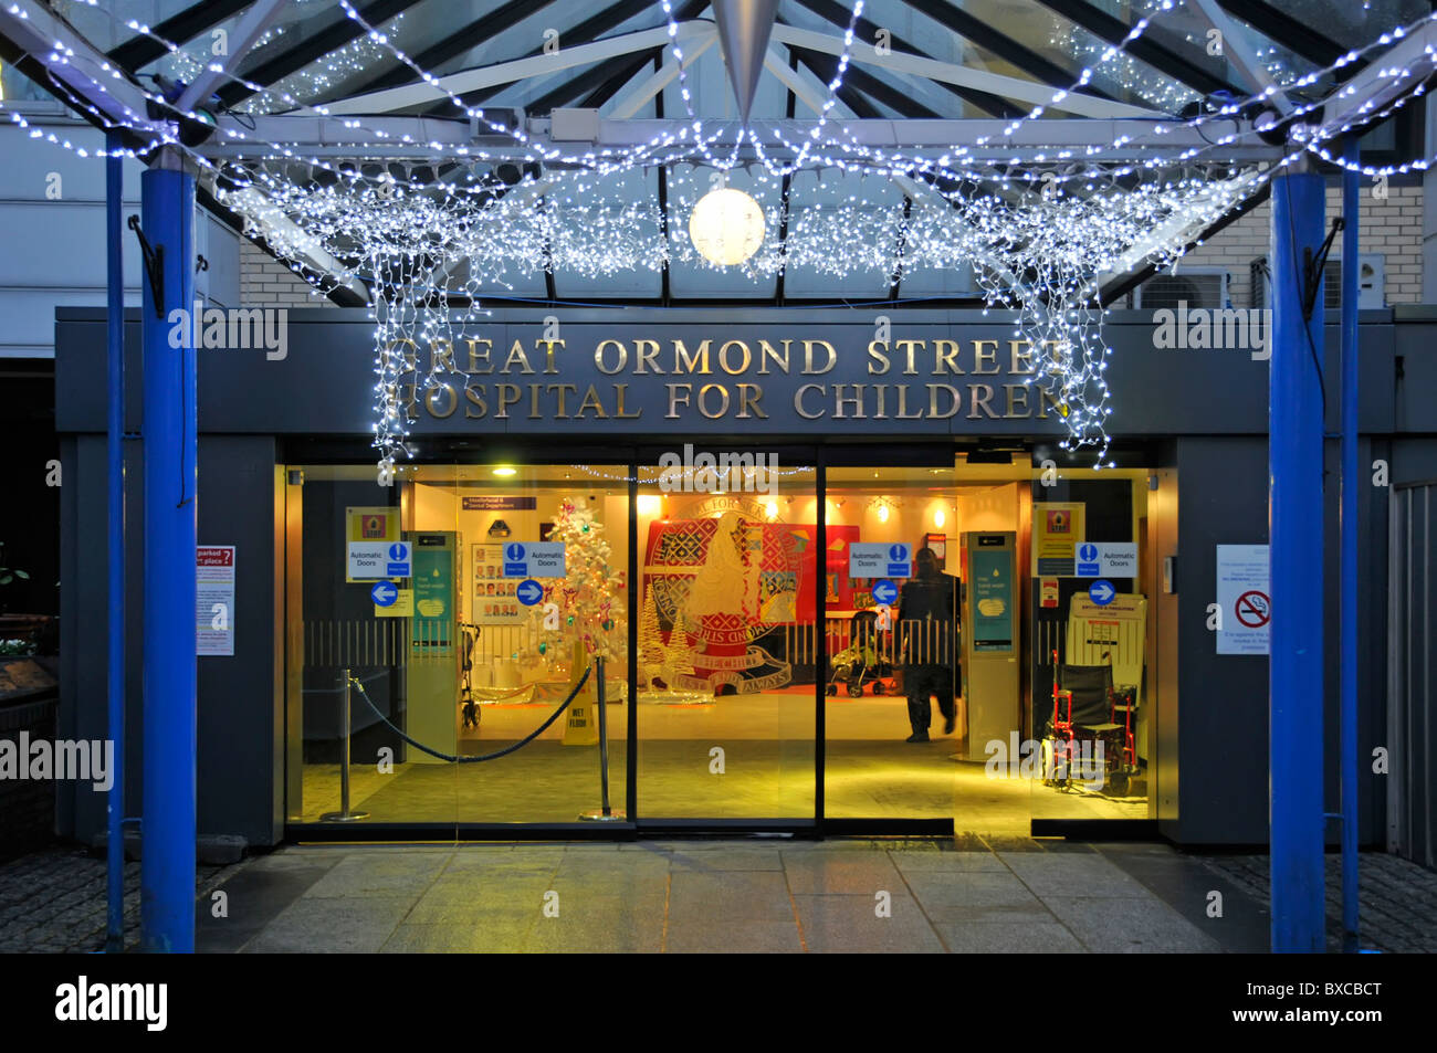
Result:
<instances>
[{"instance_id":1,"label":"white string lights draped under the entrance canopy","mask_svg":"<svg viewBox=\"0 0 1437 1053\"><path fill-rule=\"evenodd\" d=\"M96 0L82 0L96 7ZM974 279L987 307L1015 309L1017 322L1015 339L1026 340L1033 353L1033 375L1027 382L1040 389L1062 418L1068 448L1094 447L1098 463L1106 454L1108 385L1104 374L1111 349L1102 339L1099 305L1099 276L1117 269L1127 270L1144 259L1158 266L1171 266L1183 256L1188 233L1210 226L1220 215L1262 190L1282 174L1295 158L1312 152L1331 164L1354 168L1336 158L1326 144L1352 131L1358 124L1382 119L1423 95L1421 82L1437 69L1437 55L1426 49L1421 62L1403 68L1380 68L1375 75L1388 79L1395 98L1384 106L1371 108L1341 125L1323 122L1319 108L1323 99L1298 98L1346 66L1374 50L1390 47L1414 29L1437 19L1437 13L1414 23L1395 27L1377 40L1352 49L1325 69L1308 70L1282 88L1269 86L1247 99L1229 99L1221 105L1209 101L1196 116L1157 121L1147 136L1121 134L1106 147L1058 148L1045 151L1026 147L1026 161L1017 155L1004 162L981 159L974 148L1009 142L1027 122L1036 121L1049 108L1063 108L1073 92L1094 82L1104 66L1119 83L1158 105L1191 101L1190 95L1174 89L1171 98L1152 95L1131 78L1137 66L1125 53L1132 42L1142 37L1158 16L1180 6L1177 0L1141 0L1137 22L1117 43L1105 46L1095 62L1083 66L1072 86L1053 92L1048 106L1033 106L1009 122L1002 135L980 136L973 147L954 145L940 157L921 152L887 151L859 144L846 126L838 134L826 134L828 118L842 88L849 65L855 29L864 10L855 0L844 33L836 75L828 83L828 93L818 106L819 119L798 142L790 142L780 125L762 121L739 129L727 154L713 147L723 131L706 134L703 121L694 112L683 60L683 33L670 0L661 0L670 47L678 63L680 93L690 125L664 129L648 142L625 148L566 152L529 136L523 128L510 128L476 106L468 106L448 91L441 78L424 70L399 49L392 34L398 19L387 30L365 22L349 0L339 0L345 16L364 30L364 36L326 56L319 68L302 70L286 80L253 85L218 63L204 69L250 89L246 103L250 113L272 112L280 103L295 112L328 116L322 105L299 102L296 92L313 98L342 73L358 70L388 53L412 69L420 79L448 98L458 112L477 121L491 132L504 135L516 149L489 151L466 144L420 144L402 135L395 145L427 148L434 161L458 159L509 161L519 165L539 162L542 175L526 174L512 188L496 188L487 175L476 175L468 168L461 178L417 178L414 171L401 177L384 168L364 171L361 165L331 162L306 157L296 144L274 144L256 134L256 128L234 126L227 122L221 141L253 144L254 157L237 161L214 161L205 145L185 147L178 142L174 121L154 121L134 113L128 106L102 111L95 102L78 98L59 78L52 76L56 93L80 112L89 112L105 128L125 128L149 136L144 149L125 151L126 157L144 154L158 147L174 147L188 152L216 180L217 197L246 217L247 231L259 234L287 260L312 286L332 290L368 282L371 286L371 316L375 320L375 445L382 460L392 467L394 454L405 448L407 414L412 402L405 399L401 381L415 372L412 355L402 348L453 348L470 323L481 322L487 312L480 307L486 289L513 287L512 273L530 274L536 270L563 270L583 276L612 274L621 270L658 270L671 263L700 263L700 254L684 236L687 224L677 210L691 208L697 200L693 185L698 181L681 174L684 165L707 165L729 172L744 158L759 165L752 192L764 208L766 237L759 251L743 261L740 270L754 280L783 273L789 267L809 267L818 273L846 276L854 273L887 274L891 283L914 269L973 267ZM9 4L11 14L26 17L19 4ZM129 22L129 27L160 40L170 53L170 69L177 75L197 76L201 60L172 42L162 40L148 26ZM270 30L270 39L282 29ZM1089 49L1091 42L1072 34L1076 47ZM1273 73L1280 73L1275 49L1260 55ZM62 45L47 56L47 62L69 65L73 59ZM1079 56L1083 57L1083 56ZM1086 59L1085 59L1086 60ZM119 73L108 65L111 76ZM93 78L101 92L103 83ZM1129 78L1122 80L1122 78ZM1263 103L1277 91L1289 95L1292 106L1283 121L1292 122L1292 151L1266 168L1233 165L1224 161L1224 148L1257 134L1236 118L1255 103ZM1351 88L1339 91L1341 101ZM180 113L171 101L139 86L149 103L164 112L188 121L205 121L200 111ZM111 113L122 113L115 121ZM1312 124L1303 124L1305 118ZM23 116L11 112L11 119L30 128ZM1178 128L1203 128L1233 119L1233 131L1214 138L1204 135L1204 147L1183 151L1147 151L1147 157L1127 164L1105 164L1101 155L1108 149L1134 147L1171 134ZM371 118L372 121L372 118ZM361 118L346 118L346 128L366 131ZM1039 125L1040 126L1040 125ZM45 135L30 129L32 135ZM369 129L369 142L349 144L355 157L374 151L375 141L389 136L382 128ZM55 134L50 142L86 155L83 148L62 141ZM102 151L98 151L102 154ZM1213 159L1207 159L1211 155ZM1382 168L1359 167L1365 175L1387 175L1426 171L1433 158ZM645 168L665 168L675 182L668 213L657 203L625 198L622 180ZM566 171L568 170L568 171ZM836 170L846 175L879 175L885 188L895 177L924 180L934 187L911 203L895 203L891 191L868 200L862 192L836 204L805 205L793 203L789 192L775 185L776 180L799 171ZM693 168L688 175L693 175ZM325 181L319 181L319 172ZM1137 180L1137 185L1134 185ZM964 187L964 190L951 190ZM911 191L905 191L910 192ZM887 198L887 200L884 200ZM779 224L786 237L777 238ZM329 260L333 266L323 274L308 273L309 260ZM467 306L451 310L461 299ZM453 355L431 355L428 375L415 378L415 396L428 398L441 386L445 372L454 368ZM466 375L467 385L467 375ZM466 386L467 394L467 386ZM1111 461L1108 463L1111 465Z\"/></svg>"}]
</instances>

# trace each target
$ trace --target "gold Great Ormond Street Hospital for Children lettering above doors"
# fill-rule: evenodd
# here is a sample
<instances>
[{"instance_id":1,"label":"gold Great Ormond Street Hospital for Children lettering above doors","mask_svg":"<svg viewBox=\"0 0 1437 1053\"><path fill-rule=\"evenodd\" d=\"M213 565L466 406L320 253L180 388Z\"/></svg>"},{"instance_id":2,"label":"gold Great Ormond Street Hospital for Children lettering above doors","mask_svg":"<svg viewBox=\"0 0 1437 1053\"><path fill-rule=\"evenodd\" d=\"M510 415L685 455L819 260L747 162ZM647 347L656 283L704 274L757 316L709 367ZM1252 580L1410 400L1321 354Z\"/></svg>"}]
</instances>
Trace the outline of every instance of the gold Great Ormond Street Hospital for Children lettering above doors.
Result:
<instances>
[{"instance_id":1,"label":"gold Great Ormond Street Hospital for Children lettering above doors","mask_svg":"<svg viewBox=\"0 0 1437 1053\"><path fill-rule=\"evenodd\" d=\"M658 402L664 421L766 421L763 386L750 378L823 376L835 372L842 358L826 339L605 336L592 345L593 372L644 379L638 385L627 379L591 384L586 376L566 382L559 378L565 374L568 342L556 332L546 330L542 339L513 338L503 362L496 362L494 342L484 336L437 338L428 346L394 340L379 352L385 375L397 376L387 382L387 399L411 422L418 421L421 407L431 419L456 417L463 407L463 418L470 421L509 421L520 414L529 421L638 421L645 404ZM1000 361L1004 342L1007 353ZM792 353L795 345L798 358ZM1045 340L1042 349L1022 339L871 340L859 353L864 372L877 382L800 384L793 391L792 411L802 421L981 422L1065 417L1068 408L1040 385L1003 381L1038 375L1042 359L1056 356L1058 349L1058 340ZM555 379L514 382L536 374ZM971 375L999 379L948 382ZM479 379L489 376L497 382ZM714 379L658 379L683 376Z\"/></svg>"}]
</instances>

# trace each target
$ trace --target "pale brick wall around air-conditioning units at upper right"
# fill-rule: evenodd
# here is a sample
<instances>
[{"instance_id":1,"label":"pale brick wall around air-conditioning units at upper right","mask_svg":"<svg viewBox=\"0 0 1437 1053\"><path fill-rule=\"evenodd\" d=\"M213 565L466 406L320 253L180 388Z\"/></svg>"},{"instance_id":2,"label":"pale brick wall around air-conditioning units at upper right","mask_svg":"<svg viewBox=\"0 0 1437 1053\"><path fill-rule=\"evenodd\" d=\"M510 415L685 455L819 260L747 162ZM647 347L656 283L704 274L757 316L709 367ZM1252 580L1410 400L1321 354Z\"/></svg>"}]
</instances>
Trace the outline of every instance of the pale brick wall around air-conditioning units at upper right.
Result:
<instances>
[{"instance_id":1,"label":"pale brick wall around air-conditioning units at upper right","mask_svg":"<svg viewBox=\"0 0 1437 1053\"><path fill-rule=\"evenodd\" d=\"M1328 224L1342 211L1342 190L1328 187ZM1210 241L1190 251L1184 266L1224 267L1229 273L1229 294L1233 306L1252 303L1249 264L1267 254L1272 224L1272 203L1263 203ZM1334 244L1334 259L1341 256L1342 237ZM1387 257L1387 302L1421 303L1423 299L1423 188L1390 187L1385 200L1372 197L1371 184L1362 188L1358 218L1358 247L1364 253Z\"/></svg>"}]
</instances>

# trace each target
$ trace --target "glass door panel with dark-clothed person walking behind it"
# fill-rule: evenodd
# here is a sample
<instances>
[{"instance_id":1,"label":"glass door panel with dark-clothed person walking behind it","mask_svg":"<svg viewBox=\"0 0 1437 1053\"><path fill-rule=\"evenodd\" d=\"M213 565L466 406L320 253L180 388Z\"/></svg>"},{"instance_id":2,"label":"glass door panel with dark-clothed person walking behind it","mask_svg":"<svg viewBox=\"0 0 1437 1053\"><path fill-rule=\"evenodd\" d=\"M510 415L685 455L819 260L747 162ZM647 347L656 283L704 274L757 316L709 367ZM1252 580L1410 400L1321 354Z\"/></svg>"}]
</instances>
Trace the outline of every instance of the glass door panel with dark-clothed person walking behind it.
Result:
<instances>
[{"instance_id":1,"label":"glass door panel with dark-clothed person walking behind it","mask_svg":"<svg viewBox=\"0 0 1437 1053\"><path fill-rule=\"evenodd\" d=\"M828 470L826 816L954 815L964 724L951 478L951 468Z\"/></svg>"}]
</instances>

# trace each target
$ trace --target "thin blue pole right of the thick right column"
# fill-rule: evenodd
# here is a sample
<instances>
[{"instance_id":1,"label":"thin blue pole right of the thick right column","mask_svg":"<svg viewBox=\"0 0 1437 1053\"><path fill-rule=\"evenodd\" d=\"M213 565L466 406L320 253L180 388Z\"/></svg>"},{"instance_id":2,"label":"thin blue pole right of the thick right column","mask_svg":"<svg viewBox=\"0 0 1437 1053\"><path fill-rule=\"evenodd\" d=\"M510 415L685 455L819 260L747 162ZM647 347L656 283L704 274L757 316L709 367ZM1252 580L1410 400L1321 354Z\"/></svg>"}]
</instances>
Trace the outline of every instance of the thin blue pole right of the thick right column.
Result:
<instances>
[{"instance_id":1,"label":"thin blue pole right of the thick right column","mask_svg":"<svg viewBox=\"0 0 1437 1053\"><path fill-rule=\"evenodd\" d=\"M1346 159L1359 161L1358 139L1348 136ZM1342 175L1342 950L1357 952L1357 272L1361 190L1352 168Z\"/></svg>"}]
</instances>

